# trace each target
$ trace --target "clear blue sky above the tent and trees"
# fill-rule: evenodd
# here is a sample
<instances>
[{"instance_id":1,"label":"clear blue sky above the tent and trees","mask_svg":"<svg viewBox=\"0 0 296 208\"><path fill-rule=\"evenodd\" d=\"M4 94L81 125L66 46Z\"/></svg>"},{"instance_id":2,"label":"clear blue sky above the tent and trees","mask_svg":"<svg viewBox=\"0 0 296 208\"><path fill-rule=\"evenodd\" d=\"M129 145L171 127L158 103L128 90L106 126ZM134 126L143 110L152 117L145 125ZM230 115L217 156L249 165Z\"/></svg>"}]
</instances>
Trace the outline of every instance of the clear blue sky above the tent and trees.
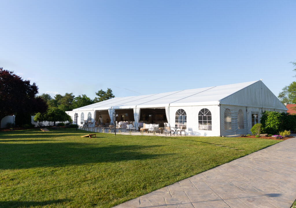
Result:
<instances>
[{"instance_id":1,"label":"clear blue sky above the tent and trees","mask_svg":"<svg viewBox=\"0 0 296 208\"><path fill-rule=\"evenodd\" d=\"M0 0L0 67L52 96L94 98L109 87L122 97L260 78L277 96L295 81L295 7L294 0Z\"/></svg>"}]
</instances>

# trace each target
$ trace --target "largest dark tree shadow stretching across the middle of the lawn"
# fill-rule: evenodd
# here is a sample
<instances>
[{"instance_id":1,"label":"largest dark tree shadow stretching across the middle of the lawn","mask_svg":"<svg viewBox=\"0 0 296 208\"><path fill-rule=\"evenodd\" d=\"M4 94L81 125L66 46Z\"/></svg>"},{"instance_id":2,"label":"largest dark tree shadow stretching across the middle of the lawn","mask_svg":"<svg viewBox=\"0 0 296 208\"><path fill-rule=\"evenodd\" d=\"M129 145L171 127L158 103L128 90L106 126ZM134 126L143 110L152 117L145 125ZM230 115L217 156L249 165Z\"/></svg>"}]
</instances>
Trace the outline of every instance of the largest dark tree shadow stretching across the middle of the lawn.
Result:
<instances>
[{"instance_id":1,"label":"largest dark tree shadow stretching across the middle of the lawn","mask_svg":"<svg viewBox=\"0 0 296 208\"><path fill-rule=\"evenodd\" d=\"M162 145L108 145L86 143L0 143L0 169L62 167L87 163L146 160L168 154L144 151Z\"/></svg>"}]
</instances>

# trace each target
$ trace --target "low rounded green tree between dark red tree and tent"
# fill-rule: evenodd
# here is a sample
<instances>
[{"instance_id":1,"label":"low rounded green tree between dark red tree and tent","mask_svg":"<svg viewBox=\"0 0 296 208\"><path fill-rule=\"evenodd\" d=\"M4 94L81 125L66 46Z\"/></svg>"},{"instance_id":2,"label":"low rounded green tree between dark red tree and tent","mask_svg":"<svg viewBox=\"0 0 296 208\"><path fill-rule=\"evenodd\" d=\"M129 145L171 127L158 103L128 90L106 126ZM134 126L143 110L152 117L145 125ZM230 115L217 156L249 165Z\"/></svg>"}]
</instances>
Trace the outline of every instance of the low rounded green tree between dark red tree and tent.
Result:
<instances>
[{"instance_id":1,"label":"low rounded green tree between dark red tree and tent","mask_svg":"<svg viewBox=\"0 0 296 208\"><path fill-rule=\"evenodd\" d=\"M55 108L55 107L51 107L48 108L48 110L45 113L36 113L35 117L34 117L34 121L52 121L55 122L59 121L59 122L64 122L64 121L72 121L71 116L69 116L65 111L59 109L59 108Z\"/></svg>"}]
</instances>

